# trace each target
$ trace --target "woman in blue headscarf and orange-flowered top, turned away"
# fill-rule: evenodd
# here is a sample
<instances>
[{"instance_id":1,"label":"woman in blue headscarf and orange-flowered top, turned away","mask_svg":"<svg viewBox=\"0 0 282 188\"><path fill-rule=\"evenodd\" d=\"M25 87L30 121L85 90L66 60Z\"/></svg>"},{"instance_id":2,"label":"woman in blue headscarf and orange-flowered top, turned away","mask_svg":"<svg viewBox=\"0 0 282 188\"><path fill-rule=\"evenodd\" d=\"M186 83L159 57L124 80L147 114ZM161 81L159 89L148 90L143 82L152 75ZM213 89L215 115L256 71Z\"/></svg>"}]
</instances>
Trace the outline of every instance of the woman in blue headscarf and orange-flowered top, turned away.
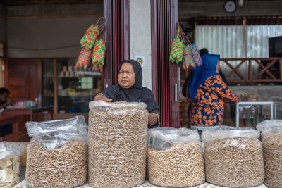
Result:
<instances>
[{"instance_id":1,"label":"woman in blue headscarf and orange-flowered top, turned away","mask_svg":"<svg viewBox=\"0 0 282 188\"><path fill-rule=\"evenodd\" d=\"M190 125L223 125L223 100L238 102L219 75L219 55L204 54L202 65L192 71L186 99L192 104Z\"/></svg>"}]
</instances>

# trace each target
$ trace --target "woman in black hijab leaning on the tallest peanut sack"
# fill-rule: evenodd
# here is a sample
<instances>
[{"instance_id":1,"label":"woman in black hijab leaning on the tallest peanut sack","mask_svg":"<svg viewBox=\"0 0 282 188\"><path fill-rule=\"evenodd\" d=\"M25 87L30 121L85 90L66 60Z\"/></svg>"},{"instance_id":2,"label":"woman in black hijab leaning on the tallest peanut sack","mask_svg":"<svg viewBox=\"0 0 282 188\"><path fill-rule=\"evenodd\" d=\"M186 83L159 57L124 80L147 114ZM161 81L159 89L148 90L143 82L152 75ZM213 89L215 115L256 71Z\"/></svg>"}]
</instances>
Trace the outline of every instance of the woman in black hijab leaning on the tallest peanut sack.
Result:
<instances>
[{"instance_id":1,"label":"woman in black hijab leaning on the tallest peanut sack","mask_svg":"<svg viewBox=\"0 0 282 188\"><path fill-rule=\"evenodd\" d=\"M154 95L147 87L142 87L142 69L135 60L125 60L118 68L118 84L104 89L94 97L94 101L127 101L143 102L147 104L149 112L148 127L159 125L157 110L159 105L154 100Z\"/></svg>"}]
</instances>

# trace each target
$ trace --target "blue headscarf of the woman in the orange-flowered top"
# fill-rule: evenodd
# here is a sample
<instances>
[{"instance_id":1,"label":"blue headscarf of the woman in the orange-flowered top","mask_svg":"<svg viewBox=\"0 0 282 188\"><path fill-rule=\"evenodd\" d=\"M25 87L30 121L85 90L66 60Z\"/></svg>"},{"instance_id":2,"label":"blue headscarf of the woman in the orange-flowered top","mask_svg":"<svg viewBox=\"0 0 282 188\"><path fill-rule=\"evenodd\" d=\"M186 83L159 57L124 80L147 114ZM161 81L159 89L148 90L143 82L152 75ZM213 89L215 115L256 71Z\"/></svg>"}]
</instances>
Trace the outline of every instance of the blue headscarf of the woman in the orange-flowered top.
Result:
<instances>
[{"instance_id":1,"label":"blue headscarf of the woman in the orange-flowered top","mask_svg":"<svg viewBox=\"0 0 282 188\"><path fill-rule=\"evenodd\" d=\"M201 56L202 65L193 70L189 80L189 96L194 101L199 86L212 75L216 73L217 61L220 56L216 54L204 54Z\"/></svg>"}]
</instances>

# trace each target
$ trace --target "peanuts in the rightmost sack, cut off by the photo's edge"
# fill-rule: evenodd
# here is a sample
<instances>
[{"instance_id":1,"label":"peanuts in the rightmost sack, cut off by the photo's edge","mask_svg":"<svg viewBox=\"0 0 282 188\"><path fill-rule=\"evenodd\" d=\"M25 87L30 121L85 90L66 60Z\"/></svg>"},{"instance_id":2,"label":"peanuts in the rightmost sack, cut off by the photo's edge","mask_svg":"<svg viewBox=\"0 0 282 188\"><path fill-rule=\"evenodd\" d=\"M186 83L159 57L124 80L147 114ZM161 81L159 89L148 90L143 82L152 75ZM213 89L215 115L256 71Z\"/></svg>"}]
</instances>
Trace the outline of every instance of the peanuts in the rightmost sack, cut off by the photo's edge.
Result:
<instances>
[{"instance_id":1,"label":"peanuts in the rightmost sack, cut off by the photo's edge","mask_svg":"<svg viewBox=\"0 0 282 188\"><path fill-rule=\"evenodd\" d=\"M282 187L282 132L262 133L264 168L267 187Z\"/></svg>"}]
</instances>

